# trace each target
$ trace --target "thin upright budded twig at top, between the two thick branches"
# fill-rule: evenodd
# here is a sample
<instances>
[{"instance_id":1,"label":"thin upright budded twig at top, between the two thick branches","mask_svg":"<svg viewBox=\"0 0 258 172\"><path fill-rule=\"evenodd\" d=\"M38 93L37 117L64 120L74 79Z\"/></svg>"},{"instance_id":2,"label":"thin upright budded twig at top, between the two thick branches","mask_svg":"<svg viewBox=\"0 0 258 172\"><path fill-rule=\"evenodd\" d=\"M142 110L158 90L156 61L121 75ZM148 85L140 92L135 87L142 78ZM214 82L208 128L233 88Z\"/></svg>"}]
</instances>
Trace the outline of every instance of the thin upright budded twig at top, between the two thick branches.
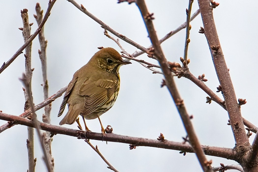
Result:
<instances>
[{"instance_id":1,"label":"thin upright budded twig at top, between the two thick branches","mask_svg":"<svg viewBox=\"0 0 258 172\"><path fill-rule=\"evenodd\" d=\"M189 6L188 6L188 9L186 9L186 15L187 15L187 18L186 18L186 41L185 41L185 44L184 44L184 60L187 61L187 53L188 53L188 45L190 43L190 39L189 39L189 36L190 36L190 16L191 16L191 11L192 11L192 4L193 4L193 0L189 0ZM187 63L186 63L186 66L184 67L187 67Z\"/></svg>"}]
</instances>

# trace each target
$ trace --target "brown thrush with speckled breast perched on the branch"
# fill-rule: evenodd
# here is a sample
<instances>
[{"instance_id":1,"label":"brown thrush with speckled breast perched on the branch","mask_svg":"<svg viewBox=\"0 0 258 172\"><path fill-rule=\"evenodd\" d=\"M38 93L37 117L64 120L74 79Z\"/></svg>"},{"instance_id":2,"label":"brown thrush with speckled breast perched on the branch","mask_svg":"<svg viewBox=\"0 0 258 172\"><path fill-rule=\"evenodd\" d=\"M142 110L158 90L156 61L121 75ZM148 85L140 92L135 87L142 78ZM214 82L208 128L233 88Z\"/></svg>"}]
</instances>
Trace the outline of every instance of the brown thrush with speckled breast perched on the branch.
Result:
<instances>
[{"instance_id":1,"label":"brown thrush with speckled breast perched on the branch","mask_svg":"<svg viewBox=\"0 0 258 172\"><path fill-rule=\"evenodd\" d=\"M102 48L96 52L87 64L75 72L69 83L58 117L63 113L66 104L68 112L59 125L73 124L81 115L85 130L90 131L84 118L98 118L104 134L105 129L99 116L114 105L120 87L118 70L120 66L130 63L123 60L114 48Z\"/></svg>"}]
</instances>

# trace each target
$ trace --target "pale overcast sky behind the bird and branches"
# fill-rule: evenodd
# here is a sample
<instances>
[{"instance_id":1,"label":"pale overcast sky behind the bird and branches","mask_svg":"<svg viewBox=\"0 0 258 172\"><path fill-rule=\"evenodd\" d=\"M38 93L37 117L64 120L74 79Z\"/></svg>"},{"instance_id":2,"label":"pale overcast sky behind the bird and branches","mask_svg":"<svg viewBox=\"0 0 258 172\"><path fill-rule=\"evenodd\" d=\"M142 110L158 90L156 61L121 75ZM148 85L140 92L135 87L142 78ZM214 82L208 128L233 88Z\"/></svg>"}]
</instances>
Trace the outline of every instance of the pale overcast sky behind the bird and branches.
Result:
<instances>
[{"instance_id":1,"label":"pale overcast sky behind the bird and branches","mask_svg":"<svg viewBox=\"0 0 258 172\"><path fill-rule=\"evenodd\" d=\"M23 0L1 1L0 27L1 42L0 63L6 62L23 45L22 19L20 10L28 9L31 34L37 29L35 5L39 2L44 12L48 1ZM217 1L216 1L217 2ZM214 18L221 47L230 69L236 96L247 100L243 105L242 115L254 125L257 122L257 2L220 0L214 9ZM84 7L122 35L144 47L150 45L141 14L135 4L117 4L115 0L77 0ZM188 1L146 0L149 11L154 13L154 24L159 38L176 29L186 21ZM197 0L193 2L192 12L198 9ZM198 77L205 73L205 83L214 92L219 85L211 54L204 34L199 34L203 26L201 16L191 22L189 44L189 69ZM65 0L58 0L45 24L47 44L47 64L49 95L66 86L76 70L88 62L98 51L97 47L119 47L103 34L98 23L79 11ZM185 30L180 31L162 44L168 61L180 62L184 53ZM136 48L120 40L124 49L132 54ZM38 38L32 46L32 91L34 103L43 101L41 63L38 57ZM19 115L23 112L24 95L22 84L18 80L25 71L24 55L18 58L0 74L0 110L4 113ZM138 59L157 64L146 54ZM111 125L116 134L156 139L163 133L165 139L182 142L186 136L178 111L166 87L160 88L163 76L152 72L137 62L120 68L120 91L114 106L101 116L104 126ZM218 104L207 104L206 93L186 78L175 78L200 143L203 145L233 148L235 146L231 127L227 125L228 114ZM216 93L221 98L221 93ZM63 96L62 96L63 97ZM62 97L52 103L51 123L59 125L57 117ZM67 109L65 110L65 112ZM43 109L37 111L41 119ZM81 120L81 119L80 119ZM6 121L0 120L0 125ZM93 132L100 132L98 119L88 120L87 126ZM77 129L77 125L64 125ZM27 127L17 125L0 134L1 171L27 171ZM45 171L42 151L35 134L36 171ZM254 135L250 137L252 143ZM136 147L129 150L128 144L94 141L107 160L119 171L201 171L196 155L179 151L149 147ZM66 135L55 135L52 142L52 156L55 171L110 171L99 155L83 140ZM212 166L220 163L237 164L235 161L210 157ZM234 170L231 170L234 171Z\"/></svg>"}]
</instances>

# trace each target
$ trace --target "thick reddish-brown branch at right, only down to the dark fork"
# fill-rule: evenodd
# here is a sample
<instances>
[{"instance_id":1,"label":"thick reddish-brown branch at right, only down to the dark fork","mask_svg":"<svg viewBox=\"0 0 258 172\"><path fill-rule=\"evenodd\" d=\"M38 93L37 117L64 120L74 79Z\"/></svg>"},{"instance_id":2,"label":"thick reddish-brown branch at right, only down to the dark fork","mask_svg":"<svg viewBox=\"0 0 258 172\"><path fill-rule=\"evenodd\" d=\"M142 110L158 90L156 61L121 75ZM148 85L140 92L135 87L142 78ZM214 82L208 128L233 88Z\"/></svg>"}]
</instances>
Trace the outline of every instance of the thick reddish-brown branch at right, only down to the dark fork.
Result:
<instances>
[{"instance_id":1,"label":"thick reddish-brown branch at right, only down to the dark fork","mask_svg":"<svg viewBox=\"0 0 258 172\"><path fill-rule=\"evenodd\" d=\"M249 142L241 116L240 106L237 103L235 90L229 75L219 37L213 18L213 7L209 0L198 0L204 24L204 33L211 51L214 67L223 89L225 105L228 110L231 128L235 137L236 146L244 146Z\"/></svg>"}]
</instances>

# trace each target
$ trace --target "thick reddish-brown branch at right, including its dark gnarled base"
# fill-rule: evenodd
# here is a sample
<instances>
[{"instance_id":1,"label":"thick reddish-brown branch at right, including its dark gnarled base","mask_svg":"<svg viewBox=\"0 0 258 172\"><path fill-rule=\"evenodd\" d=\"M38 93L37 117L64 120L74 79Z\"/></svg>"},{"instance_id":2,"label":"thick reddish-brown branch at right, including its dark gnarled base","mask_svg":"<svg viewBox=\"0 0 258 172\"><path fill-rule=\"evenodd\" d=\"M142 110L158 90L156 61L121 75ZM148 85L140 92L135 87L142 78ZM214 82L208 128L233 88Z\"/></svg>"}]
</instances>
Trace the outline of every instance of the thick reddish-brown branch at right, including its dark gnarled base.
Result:
<instances>
[{"instance_id":1,"label":"thick reddish-brown branch at right, including its dark gnarled base","mask_svg":"<svg viewBox=\"0 0 258 172\"><path fill-rule=\"evenodd\" d=\"M235 138L235 148L239 154L238 162L245 169L245 171L257 171L257 157L254 158L255 161L249 161L251 159L250 156L252 155L252 147L249 144L249 139L245 132L240 105L237 103L235 90L224 59L213 18L213 8L219 4L213 1L210 2L209 0L198 0L198 4L204 25L204 34L210 48L214 67L220 82L221 91L225 99L230 126Z\"/></svg>"}]
</instances>

